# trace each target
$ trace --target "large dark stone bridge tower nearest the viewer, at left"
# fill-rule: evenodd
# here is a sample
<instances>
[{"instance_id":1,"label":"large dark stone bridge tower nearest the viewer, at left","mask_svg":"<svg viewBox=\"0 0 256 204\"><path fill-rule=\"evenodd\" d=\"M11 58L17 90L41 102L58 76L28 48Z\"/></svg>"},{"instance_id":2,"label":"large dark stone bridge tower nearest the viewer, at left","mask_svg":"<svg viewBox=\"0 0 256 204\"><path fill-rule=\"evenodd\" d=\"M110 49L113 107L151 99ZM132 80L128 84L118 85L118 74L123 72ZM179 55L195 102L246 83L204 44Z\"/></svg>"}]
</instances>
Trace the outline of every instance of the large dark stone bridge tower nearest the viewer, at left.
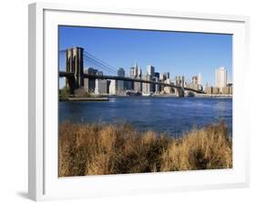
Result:
<instances>
[{"instance_id":1,"label":"large dark stone bridge tower nearest the viewer, at left","mask_svg":"<svg viewBox=\"0 0 256 204\"><path fill-rule=\"evenodd\" d=\"M68 73L74 73L74 77L66 80L66 86L69 87L70 94L74 94L75 89L84 87L84 49L74 46L67 49L66 52L66 69Z\"/></svg>"}]
</instances>

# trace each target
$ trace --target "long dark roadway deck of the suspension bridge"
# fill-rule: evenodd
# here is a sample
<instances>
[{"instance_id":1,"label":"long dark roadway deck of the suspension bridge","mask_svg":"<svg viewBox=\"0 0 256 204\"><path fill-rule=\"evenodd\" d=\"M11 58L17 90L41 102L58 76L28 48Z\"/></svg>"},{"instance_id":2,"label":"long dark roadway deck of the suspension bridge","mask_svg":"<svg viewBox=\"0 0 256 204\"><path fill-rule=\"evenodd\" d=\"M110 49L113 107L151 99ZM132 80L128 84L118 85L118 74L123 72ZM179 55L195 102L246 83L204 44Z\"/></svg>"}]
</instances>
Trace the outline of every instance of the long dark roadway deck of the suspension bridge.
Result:
<instances>
[{"instance_id":1,"label":"long dark roadway deck of the suspension bridge","mask_svg":"<svg viewBox=\"0 0 256 204\"><path fill-rule=\"evenodd\" d=\"M64 71L59 71L59 76L60 77L74 77L74 73L71 72L64 72ZM129 77L123 77L123 76L105 76L105 75L89 75L89 74L84 74L84 78L93 78L93 79L112 79L112 80L118 80L118 81L134 81L134 82L142 82L142 83L150 83L154 85L159 85L159 86L165 86L165 87L174 87L174 88L179 88L179 89L184 89L187 91L193 91L198 94L205 94L205 92L200 91L200 90L195 90L193 88L189 87L180 87L172 84L166 84L163 82L157 82L157 81L148 81L144 80L141 78L129 78Z\"/></svg>"}]
</instances>

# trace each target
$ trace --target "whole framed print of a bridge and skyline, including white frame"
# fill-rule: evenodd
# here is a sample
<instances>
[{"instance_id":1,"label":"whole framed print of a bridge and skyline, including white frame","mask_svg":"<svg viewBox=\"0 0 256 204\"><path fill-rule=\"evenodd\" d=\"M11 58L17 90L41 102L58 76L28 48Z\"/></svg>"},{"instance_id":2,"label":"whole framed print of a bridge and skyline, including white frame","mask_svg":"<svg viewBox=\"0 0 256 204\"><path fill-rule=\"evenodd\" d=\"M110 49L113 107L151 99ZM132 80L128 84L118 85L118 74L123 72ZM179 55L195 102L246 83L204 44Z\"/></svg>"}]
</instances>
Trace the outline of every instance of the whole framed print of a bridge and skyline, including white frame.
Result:
<instances>
[{"instance_id":1,"label":"whole framed print of a bridge and skyline, including white frame","mask_svg":"<svg viewBox=\"0 0 256 204\"><path fill-rule=\"evenodd\" d=\"M248 24L29 5L29 198L248 186Z\"/></svg>"}]
</instances>

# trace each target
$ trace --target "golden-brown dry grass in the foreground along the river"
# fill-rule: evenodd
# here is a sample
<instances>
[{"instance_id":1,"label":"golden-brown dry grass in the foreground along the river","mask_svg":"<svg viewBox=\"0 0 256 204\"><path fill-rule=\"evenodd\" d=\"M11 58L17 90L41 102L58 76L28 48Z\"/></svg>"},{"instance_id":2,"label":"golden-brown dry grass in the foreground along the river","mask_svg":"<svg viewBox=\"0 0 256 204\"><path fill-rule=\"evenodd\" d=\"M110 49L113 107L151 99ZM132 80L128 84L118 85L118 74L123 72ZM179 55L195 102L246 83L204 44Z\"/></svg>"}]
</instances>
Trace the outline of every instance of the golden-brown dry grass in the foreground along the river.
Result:
<instances>
[{"instance_id":1,"label":"golden-brown dry grass in the foreground along the river","mask_svg":"<svg viewBox=\"0 0 256 204\"><path fill-rule=\"evenodd\" d=\"M224 123L179 139L138 132L128 124L59 126L59 176L232 168Z\"/></svg>"}]
</instances>

